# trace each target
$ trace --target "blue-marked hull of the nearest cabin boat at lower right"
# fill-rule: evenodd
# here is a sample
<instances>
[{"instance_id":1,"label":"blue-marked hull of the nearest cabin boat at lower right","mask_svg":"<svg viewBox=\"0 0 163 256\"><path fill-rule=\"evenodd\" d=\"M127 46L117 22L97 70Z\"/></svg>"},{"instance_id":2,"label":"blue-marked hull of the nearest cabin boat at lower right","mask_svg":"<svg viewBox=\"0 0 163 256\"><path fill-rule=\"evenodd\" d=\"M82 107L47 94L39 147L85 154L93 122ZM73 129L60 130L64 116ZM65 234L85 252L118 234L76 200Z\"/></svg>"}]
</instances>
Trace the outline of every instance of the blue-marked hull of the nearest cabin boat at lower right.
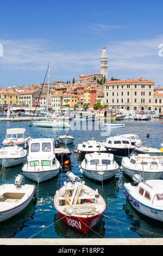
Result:
<instances>
[{"instance_id":1,"label":"blue-marked hull of the nearest cabin boat at lower right","mask_svg":"<svg viewBox=\"0 0 163 256\"><path fill-rule=\"evenodd\" d=\"M135 210L149 218L153 218L156 221L163 221L163 210L152 208L151 206L142 204L141 202L137 201L130 193L127 192L125 186L124 194L126 195L129 203L134 207Z\"/></svg>"}]
</instances>

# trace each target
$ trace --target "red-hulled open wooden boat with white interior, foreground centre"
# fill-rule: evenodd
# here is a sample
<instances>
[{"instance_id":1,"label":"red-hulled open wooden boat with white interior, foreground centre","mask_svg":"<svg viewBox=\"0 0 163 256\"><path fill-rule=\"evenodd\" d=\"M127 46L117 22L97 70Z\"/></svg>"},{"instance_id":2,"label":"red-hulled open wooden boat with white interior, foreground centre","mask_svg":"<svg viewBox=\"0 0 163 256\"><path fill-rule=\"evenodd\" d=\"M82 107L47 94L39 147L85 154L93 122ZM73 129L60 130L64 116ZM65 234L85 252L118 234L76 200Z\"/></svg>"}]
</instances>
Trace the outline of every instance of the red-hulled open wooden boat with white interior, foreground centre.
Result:
<instances>
[{"instance_id":1,"label":"red-hulled open wooden boat with white interior, foreground centre","mask_svg":"<svg viewBox=\"0 0 163 256\"><path fill-rule=\"evenodd\" d=\"M59 217L70 227L87 234L101 220L106 208L103 197L98 190L85 185L85 181L71 172L66 173L70 182L56 191L54 206Z\"/></svg>"}]
</instances>

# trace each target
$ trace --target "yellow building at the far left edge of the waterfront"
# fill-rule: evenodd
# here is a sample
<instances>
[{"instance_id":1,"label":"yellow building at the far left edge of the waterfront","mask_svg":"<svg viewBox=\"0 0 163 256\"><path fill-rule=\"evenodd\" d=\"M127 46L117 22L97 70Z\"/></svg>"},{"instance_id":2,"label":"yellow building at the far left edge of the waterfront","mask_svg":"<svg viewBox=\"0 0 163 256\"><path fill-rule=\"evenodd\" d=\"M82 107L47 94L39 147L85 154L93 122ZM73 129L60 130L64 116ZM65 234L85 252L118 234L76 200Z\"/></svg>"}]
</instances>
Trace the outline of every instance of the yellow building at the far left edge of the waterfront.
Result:
<instances>
[{"instance_id":1,"label":"yellow building at the far left edge of the waterfront","mask_svg":"<svg viewBox=\"0 0 163 256\"><path fill-rule=\"evenodd\" d=\"M19 105L20 95L9 89L0 89L0 105Z\"/></svg>"}]
</instances>

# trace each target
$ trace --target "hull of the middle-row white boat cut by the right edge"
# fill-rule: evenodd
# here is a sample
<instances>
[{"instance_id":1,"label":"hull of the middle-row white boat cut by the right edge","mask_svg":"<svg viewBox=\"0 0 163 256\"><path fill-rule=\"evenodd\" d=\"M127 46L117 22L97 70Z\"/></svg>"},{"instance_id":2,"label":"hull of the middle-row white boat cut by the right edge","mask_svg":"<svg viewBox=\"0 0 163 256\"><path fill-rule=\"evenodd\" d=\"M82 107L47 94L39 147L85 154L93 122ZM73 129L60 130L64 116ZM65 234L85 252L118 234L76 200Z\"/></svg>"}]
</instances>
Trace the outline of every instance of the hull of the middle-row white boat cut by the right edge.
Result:
<instances>
[{"instance_id":1,"label":"hull of the middle-row white boat cut by the right edge","mask_svg":"<svg viewBox=\"0 0 163 256\"><path fill-rule=\"evenodd\" d=\"M142 177L144 177L144 179L147 179L147 180L157 180L157 179L160 179L163 175L163 169L160 172L157 172L156 170L153 170L153 172L148 172L148 171L142 172L142 170L133 170L123 166L123 171L125 174L127 174L131 178L135 174L140 174Z\"/></svg>"}]
</instances>

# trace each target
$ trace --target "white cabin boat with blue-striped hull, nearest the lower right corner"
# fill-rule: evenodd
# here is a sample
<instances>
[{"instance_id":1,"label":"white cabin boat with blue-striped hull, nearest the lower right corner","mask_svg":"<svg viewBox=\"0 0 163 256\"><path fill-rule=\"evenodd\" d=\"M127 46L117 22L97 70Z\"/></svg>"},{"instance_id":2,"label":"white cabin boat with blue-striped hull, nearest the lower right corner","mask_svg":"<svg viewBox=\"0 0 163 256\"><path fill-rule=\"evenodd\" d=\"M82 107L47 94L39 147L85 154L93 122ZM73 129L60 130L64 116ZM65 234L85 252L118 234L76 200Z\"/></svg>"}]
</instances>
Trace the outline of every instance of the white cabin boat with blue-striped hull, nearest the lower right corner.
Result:
<instances>
[{"instance_id":1,"label":"white cabin boat with blue-striped hull, nearest the lower right corner","mask_svg":"<svg viewBox=\"0 0 163 256\"><path fill-rule=\"evenodd\" d=\"M137 175L137 174L136 174ZM131 185L124 183L124 194L130 204L141 214L153 218L157 221L163 221L163 180L143 181L140 176L133 176L137 183Z\"/></svg>"}]
</instances>

